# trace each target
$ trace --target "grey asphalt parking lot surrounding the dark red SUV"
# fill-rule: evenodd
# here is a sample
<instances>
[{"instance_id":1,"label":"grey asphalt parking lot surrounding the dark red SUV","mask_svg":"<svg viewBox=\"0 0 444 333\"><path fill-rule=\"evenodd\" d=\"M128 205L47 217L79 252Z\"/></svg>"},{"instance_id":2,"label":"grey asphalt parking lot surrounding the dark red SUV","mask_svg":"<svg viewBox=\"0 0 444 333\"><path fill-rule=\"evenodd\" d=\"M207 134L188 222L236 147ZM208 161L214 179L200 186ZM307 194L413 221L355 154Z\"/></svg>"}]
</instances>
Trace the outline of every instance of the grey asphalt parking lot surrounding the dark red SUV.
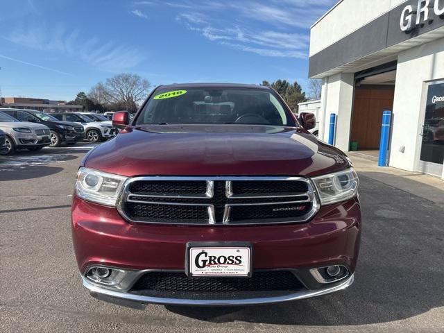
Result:
<instances>
[{"instance_id":1,"label":"grey asphalt parking lot surrounding the dark red SUV","mask_svg":"<svg viewBox=\"0 0 444 333\"><path fill-rule=\"evenodd\" d=\"M69 211L78 164L92 147L0 157L1 332L444 331L444 191L361 167L359 158L364 230L349 289L261 307L144 311L90 297Z\"/></svg>"}]
</instances>

